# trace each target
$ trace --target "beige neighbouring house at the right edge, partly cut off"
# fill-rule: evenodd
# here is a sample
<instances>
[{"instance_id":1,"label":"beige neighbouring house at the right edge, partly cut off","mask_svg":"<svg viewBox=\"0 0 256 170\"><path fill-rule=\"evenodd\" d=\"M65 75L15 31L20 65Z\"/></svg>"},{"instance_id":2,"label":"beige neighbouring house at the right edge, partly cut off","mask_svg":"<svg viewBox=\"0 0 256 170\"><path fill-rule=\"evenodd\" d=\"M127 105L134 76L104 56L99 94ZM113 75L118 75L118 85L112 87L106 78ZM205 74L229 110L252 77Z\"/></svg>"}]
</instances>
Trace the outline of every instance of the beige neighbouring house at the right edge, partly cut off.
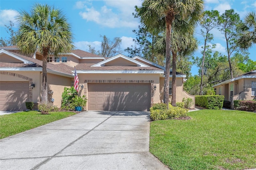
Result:
<instances>
[{"instance_id":1,"label":"beige neighbouring house at the right edge, partly cut off","mask_svg":"<svg viewBox=\"0 0 256 170\"><path fill-rule=\"evenodd\" d=\"M256 99L256 70L247 72L212 86L217 95L223 95L224 100L231 102L234 109L234 100Z\"/></svg>"}]
</instances>

